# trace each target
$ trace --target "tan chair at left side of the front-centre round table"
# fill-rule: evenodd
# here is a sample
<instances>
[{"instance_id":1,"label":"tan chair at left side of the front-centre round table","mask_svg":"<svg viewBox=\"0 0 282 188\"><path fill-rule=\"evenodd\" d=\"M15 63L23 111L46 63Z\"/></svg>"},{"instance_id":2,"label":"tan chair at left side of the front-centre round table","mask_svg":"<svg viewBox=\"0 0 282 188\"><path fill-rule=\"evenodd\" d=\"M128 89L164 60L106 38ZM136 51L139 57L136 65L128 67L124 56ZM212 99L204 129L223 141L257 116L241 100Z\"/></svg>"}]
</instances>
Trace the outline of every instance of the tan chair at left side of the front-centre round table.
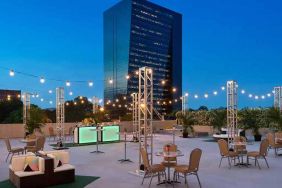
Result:
<instances>
[{"instance_id":1,"label":"tan chair at left side of the front-centre round table","mask_svg":"<svg viewBox=\"0 0 282 188\"><path fill-rule=\"evenodd\" d=\"M151 177L149 184L150 187L152 183L152 179L155 174L158 175L158 182L160 182L160 174L164 175L166 180L165 166L163 166L162 164L151 165L148 159L148 153L145 148L141 148L141 156L144 163L144 172L145 172L141 185L143 185L144 179L146 177Z\"/></svg>"}]
</instances>

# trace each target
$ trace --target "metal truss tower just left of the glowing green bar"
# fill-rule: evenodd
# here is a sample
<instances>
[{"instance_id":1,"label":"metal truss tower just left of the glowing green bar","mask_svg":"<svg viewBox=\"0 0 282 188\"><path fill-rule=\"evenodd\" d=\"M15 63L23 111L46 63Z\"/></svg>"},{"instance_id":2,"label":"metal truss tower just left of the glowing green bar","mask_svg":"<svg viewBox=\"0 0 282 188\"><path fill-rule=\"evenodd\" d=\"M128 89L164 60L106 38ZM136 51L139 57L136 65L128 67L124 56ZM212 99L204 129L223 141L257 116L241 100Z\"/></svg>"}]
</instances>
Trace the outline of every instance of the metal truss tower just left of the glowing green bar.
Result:
<instances>
[{"instance_id":1,"label":"metal truss tower just left of the glowing green bar","mask_svg":"<svg viewBox=\"0 0 282 188\"><path fill-rule=\"evenodd\" d=\"M63 147L62 144L65 140L64 133L65 123L65 95L64 88L56 88L56 130L57 130L57 145Z\"/></svg>"}]
</instances>

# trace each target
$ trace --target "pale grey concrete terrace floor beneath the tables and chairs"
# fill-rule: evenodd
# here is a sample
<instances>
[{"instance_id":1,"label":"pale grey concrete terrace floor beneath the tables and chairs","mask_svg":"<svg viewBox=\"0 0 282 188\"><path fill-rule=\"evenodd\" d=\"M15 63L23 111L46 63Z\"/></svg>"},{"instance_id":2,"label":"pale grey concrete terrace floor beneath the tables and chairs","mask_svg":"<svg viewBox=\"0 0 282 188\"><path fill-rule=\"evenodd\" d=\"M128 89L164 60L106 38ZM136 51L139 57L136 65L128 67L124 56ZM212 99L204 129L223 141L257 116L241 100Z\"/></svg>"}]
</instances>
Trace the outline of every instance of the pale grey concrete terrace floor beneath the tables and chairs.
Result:
<instances>
[{"instance_id":1,"label":"pale grey concrete terrace floor beneath the tables and chairs","mask_svg":"<svg viewBox=\"0 0 282 188\"><path fill-rule=\"evenodd\" d=\"M202 187L206 188L279 188L282 185L282 157L275 157L273 150L268 155L270 169L268 169L263 160L260 161L262 167L259 170L254 165L246 167L232 167L228 169L227 161L224 160L222 167L218 168L220 155L216 142L207 142L207 138L189 138L184 139L176 137L176 144L185 154L178 158L178 163L187 163L188 156L192 149L201 148L203 155L200 163L199 177ZM162 146L172 141L171 135L156 135L154 138L154 150L160 151ZM46 150L51 149L51 142L47 142ZM18 140L12 140L12 146L24 146ZM258 150L259 143L248 145L249 151ZM140 185L142 178L130 174L138 166L138 144L128 143L128 158L134 163L120 164L118 159L123 158L124 144L114 143L100 146L103 154L90 154L95 150L95 146L83 146L70 148L71 164L76 167L77 175L99 176L97 181L89 184L87 187L103 188L135 188L148 187L149 179L145 180L143 186ZM8 179L8 164L5 162L6 147L4 141L0 141L0 181ZM160 157L154 156L154 163L160 162ZM185 187L184 181L175 187ZM196 177L188 177L189 187L198 188ZM170 187L170 185L157 186L157 178L153 179L151 187Z\"/></svg>"}]
</instances>

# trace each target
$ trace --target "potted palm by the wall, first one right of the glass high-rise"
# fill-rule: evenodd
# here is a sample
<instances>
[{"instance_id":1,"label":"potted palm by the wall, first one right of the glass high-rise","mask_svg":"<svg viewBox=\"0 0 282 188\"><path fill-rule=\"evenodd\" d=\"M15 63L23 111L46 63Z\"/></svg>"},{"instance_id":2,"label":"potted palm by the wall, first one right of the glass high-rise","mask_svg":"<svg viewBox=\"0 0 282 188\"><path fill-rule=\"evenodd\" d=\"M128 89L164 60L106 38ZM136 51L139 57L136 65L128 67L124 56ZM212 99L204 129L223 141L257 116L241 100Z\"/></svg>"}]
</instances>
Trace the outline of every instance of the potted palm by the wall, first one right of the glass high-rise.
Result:
<instances>
[{"instance_id":1,"label":"potted palm by the wall, first one right of the glass high-rise","mask_svg":"<svg viewBox=\"0 0 282 188\"><path fill-rule=\"evenodd\" d=\"M176 117L178 122L183 127L183 138L188 138L189 133L194 134L193 125L195 123L195 119L193 118L191 113L186 112L185 114L183 114L182 112L177 112Z\"/></svg>"}]
</instances>

